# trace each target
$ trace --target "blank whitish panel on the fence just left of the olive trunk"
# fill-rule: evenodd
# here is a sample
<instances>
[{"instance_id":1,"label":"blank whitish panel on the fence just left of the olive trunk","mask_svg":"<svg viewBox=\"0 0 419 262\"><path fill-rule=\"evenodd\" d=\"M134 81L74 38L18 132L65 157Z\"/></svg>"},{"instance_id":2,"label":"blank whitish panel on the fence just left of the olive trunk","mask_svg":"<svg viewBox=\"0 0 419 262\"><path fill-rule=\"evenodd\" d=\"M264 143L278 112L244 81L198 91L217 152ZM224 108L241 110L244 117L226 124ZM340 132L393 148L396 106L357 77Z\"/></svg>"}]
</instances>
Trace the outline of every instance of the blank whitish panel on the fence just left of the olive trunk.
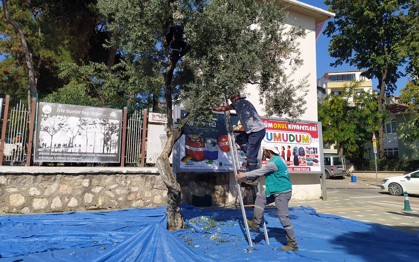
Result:
<instances>
[{"instance_id":1,"label":"blank whitish panel on the fence just left of the olive trunk","mask_svg":"<svg viewBox=\"0 0 419 262\"><path fill-rule=\"evenodd\" d=\"M156 163L157 157L166 146L167 134L166 126L149 124L147 133L147 163ZM170 163L173 163L173 152L169 157Z\"/></svg>"}]
</instances>

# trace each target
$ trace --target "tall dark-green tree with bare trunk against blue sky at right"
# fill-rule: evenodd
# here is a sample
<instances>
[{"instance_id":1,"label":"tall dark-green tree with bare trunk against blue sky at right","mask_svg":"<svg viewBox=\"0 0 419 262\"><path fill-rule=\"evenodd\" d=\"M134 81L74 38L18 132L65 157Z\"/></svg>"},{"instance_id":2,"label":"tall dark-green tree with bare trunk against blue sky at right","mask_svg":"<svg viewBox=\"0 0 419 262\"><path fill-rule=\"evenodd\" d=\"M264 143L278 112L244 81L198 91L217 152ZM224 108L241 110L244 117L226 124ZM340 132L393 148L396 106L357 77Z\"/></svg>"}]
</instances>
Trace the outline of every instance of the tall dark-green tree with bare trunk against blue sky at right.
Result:
<instances>
[{"instance_id":1,"label":"tall dark-green tree with bare trunk against blue sky at right","mask_svg":"<svg viewBox=\"0 0 419 262\"><path fill-rule=\"evenodd\" d=\"M335 12L324 34L332 37L331 66L349 63L365 69L362 75L377 78L378 111L383 110L384 96L397 88L396 81L404 74L399 70L406 62L401 43L408 35L408 25L401 10L404 0L325 0L329 11ZM385 158L383 124L379 128L380 158Z\"/></svg>"}]
</instances>

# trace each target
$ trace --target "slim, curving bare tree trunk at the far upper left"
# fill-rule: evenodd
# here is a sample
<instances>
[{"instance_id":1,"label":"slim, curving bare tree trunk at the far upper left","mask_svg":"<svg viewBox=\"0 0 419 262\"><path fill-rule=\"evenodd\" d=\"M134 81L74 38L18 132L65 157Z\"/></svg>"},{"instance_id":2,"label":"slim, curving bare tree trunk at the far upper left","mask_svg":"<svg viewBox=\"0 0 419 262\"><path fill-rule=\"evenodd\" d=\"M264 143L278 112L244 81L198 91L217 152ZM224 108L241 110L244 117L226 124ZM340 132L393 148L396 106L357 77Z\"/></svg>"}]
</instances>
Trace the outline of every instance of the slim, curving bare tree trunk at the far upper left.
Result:
<instances>
[{"instance_id":1,"label":"slim, curving bare tree trunk at the far upper left","mask_svg":"<svg viewBox=\"0 0 419 262\"><path fill-rule=\"evenodd\" d=\"M8 4L9 4L9 0L3 1L4 14L6 16L7 21L19 33L20 40L22 42L22 47L23 47L23 50L25 52L26 65L28 67L28 74L29 74L28 110L29 110L29 115L30 115L31 111L32 111L32 97L35 97L36 94L37 94L37 85L36 85L36 82L35 82L34 68L32 66L31 54L29 52L28 44L26 42L25 35L23 34L23 30L19 25L17 25L15 22L13 22L13 19L10 17L9 10L7 9Z\"/></svg>"}]
</instances>

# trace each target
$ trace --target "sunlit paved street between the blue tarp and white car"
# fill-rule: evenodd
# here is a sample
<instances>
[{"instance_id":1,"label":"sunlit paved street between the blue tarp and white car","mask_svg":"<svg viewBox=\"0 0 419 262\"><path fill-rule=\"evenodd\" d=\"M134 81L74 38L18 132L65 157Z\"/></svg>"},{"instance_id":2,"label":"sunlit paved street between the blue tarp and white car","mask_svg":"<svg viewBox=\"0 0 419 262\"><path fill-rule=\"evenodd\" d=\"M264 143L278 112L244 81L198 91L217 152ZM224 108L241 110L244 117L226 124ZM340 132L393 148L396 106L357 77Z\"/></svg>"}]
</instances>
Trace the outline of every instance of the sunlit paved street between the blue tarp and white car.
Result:
<instances>
[{"instance_id":1,"label":"sunlit paved street between the blue tarp and white car","mask_svg":"<svg viewBox=\"0 0 419 262\"><path fill-rule=\"evenodd\" d=\"M404 196L381 191L375 180L350 182L348 177L331 178L326 180L326 189L327 201L291 199L290 206L310 206L317 213L388 225L410 233L419 232L419 195L409 195L413 211L404 211Z\"/></svg>"}]
</instances>

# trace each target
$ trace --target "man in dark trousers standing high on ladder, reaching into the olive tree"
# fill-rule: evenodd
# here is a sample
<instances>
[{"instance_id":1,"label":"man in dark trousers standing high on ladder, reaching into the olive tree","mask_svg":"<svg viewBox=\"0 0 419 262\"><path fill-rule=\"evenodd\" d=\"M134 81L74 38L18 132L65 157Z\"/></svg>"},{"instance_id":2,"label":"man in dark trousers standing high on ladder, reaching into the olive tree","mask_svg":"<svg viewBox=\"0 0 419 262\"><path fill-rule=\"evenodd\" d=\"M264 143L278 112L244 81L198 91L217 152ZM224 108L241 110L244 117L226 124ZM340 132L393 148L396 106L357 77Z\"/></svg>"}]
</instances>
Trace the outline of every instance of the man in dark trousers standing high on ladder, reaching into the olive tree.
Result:
<instances>
[{"instance_id":1,"label":"man in dark trousers standing high on ladder, reaching into the olive tree","mask_svg":"<svg viewBox=\"0 0 419 262\"><path fill-rule=\"evenodd\" d=\"M214 111L236 111L240 123L243 125L244 133L237 135L235 142L246 154L247 171L253 171L258 167L258 153L266 130L265 124L262 122L255 107L245 98L246 95L244 93L237 93L230 98L230 105L215 107ZM258 179L247 180L245 183L255 186L258 184Z\"/></svg>"}]
</instances>

